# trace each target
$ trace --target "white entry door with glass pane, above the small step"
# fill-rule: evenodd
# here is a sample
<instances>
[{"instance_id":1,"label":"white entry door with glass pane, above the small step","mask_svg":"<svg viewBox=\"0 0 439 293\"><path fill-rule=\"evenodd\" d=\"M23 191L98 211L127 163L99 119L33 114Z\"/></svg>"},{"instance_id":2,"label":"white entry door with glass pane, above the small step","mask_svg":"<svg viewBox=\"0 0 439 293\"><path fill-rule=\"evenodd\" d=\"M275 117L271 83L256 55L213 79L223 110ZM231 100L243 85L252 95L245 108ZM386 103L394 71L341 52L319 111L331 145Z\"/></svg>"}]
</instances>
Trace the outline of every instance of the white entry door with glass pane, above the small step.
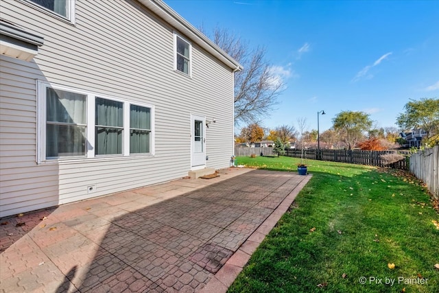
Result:
<instances>
[{"instance_id":1,"label":"white entry door with glass pane, above the small step","mask_svg":"<svg viewBox=\"0 0 439 293\"><path fill-rule=\"evenodd\" d=\"M206 165L206 117L192 115L191 141L192 167L204 167Z\"/></svg>"}]
</instances>

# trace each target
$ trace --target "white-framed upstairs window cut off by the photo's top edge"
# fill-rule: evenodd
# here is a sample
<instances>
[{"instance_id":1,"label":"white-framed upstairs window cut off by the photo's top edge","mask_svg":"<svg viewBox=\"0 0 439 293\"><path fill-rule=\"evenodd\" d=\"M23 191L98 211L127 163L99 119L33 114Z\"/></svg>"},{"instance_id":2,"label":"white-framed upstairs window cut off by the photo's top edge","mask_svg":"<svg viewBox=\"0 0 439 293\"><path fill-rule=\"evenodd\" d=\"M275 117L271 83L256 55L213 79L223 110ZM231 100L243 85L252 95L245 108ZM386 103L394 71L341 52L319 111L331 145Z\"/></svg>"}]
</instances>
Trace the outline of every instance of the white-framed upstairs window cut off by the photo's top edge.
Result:
<instances>
[{"instance_id":1,"label":"white-framed upstairs window cut off by the photo's top edge","mask_svg":"<svg viewBox=\"0 0 439 293\"><path fill-rule=\"evenodd\" d=\"M34 8L75 23L76 0L21 0Z\"/></svg>"}]
</instances>

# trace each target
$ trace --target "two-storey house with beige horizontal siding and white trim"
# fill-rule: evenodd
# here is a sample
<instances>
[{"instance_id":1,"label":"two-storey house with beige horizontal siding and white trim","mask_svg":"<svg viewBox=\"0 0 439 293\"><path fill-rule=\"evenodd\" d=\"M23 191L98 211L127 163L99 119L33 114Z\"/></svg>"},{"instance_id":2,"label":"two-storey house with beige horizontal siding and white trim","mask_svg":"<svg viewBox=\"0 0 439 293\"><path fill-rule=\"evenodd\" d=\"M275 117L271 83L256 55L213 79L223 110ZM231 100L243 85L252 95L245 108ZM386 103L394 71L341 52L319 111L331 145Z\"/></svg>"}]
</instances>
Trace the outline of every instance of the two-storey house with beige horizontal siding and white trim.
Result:
<instances>
[{"instance_id":1,"label":"two-storey house with beige horizontal siding and white trim","mask_svg":"<svg viewBox=\"0 0 439 293\"><path fill-rule=\"evenodd\" d=\"M0 217L229 166L242 67L163 1L0 5Z\"/></svg>"}]
</instances>

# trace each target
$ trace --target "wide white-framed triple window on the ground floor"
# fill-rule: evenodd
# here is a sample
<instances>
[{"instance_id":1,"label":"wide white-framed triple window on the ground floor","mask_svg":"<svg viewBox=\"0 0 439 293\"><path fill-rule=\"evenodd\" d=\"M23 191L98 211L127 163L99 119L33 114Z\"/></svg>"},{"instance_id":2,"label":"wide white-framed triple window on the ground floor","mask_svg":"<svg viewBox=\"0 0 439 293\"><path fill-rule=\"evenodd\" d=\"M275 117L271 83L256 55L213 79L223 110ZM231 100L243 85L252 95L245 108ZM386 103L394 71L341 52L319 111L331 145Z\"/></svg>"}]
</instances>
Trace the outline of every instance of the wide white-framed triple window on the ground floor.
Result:
<instances>
[{"instance_id":1,"label":"wide white-framed triple window on the ground floor","mask_svg":"<svg viewBox=\"0 0 439 293\"><path fill-rule=\"evenodd\" d=\"M37 86L37 163L154 154L154 106Z\"/></svg>"}]
</instances>

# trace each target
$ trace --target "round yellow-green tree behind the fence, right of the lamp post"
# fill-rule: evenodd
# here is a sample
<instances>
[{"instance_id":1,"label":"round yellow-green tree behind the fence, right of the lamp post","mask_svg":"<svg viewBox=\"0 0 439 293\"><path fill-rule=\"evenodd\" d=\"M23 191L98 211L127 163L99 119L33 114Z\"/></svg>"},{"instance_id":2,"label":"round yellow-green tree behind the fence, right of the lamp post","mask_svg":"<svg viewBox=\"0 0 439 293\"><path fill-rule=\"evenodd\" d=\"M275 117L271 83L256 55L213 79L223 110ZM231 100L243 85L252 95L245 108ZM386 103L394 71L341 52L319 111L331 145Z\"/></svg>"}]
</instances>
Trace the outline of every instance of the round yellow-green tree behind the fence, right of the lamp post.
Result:
<instances>
[{"instance_id":1,"label":"round yellow-green tree behind the fence, right of the lamp post","mask_svg":"<svg viewBox=\"0 0 439 293\"><path fill-rule=\"evenodd\" d=\"M357 141L364 137L363 133L371 126L369 115L361 111L342 111L333 118L333 128L344 134L344 142L349 150L352 150Z\"/></svg>"}]
</instances>

